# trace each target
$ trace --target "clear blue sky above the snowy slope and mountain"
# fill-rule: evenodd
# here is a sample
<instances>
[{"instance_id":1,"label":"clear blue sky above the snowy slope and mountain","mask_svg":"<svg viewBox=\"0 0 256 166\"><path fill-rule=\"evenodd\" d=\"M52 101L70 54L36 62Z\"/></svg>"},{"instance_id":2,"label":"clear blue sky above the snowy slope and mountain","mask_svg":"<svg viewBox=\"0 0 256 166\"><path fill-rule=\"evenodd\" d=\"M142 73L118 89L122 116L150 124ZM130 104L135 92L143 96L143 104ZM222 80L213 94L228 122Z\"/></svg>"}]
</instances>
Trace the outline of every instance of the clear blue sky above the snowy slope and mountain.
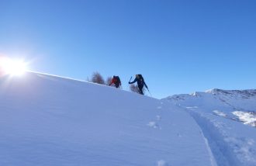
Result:
<instances>
[{"instance_id":1,"label":"clear blue sky above the snowy slope and mountain","mask_svg":"<svg viewBox=\"0 0 256 166\"><path fill-rule=\"evenodd\" d=\"M158 99L256 87L255 0L0 0L0 54L86 80L143 74Z\"/></svg>"}]
</instances>

